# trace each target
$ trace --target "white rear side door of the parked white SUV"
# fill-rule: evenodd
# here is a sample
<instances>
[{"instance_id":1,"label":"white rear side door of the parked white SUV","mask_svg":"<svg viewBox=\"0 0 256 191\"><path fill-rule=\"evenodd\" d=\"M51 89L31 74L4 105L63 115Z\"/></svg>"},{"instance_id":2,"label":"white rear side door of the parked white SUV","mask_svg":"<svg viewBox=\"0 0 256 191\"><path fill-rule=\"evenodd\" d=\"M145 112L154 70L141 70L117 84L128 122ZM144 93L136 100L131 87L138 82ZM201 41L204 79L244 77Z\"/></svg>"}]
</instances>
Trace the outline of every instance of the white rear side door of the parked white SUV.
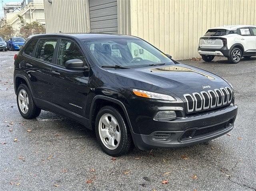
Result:
<instances>
[{"instance_id":1,"label":"white rear side door of the parked white SUV","mask_svg":"<svg viewBox=\"0 0 256 191\"><path fill-rule=\"evenodd\" d=\"M252 35L249 27L239 28L240 42L244 46L244 55L249 55L255 50L255 37Z\"/></svg>"}]
</instances>

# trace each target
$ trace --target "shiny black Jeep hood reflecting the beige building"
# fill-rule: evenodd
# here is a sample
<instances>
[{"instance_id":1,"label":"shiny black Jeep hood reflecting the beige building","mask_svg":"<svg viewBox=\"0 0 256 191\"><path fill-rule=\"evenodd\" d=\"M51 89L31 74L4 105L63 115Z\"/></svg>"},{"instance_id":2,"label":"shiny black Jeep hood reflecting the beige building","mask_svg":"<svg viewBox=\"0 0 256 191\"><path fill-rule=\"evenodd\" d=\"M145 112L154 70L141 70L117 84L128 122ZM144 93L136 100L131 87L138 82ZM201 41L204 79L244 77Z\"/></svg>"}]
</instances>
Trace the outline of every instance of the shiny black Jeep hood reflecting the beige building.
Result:
<instances>
[{"instance_id":1,"label":"shiny black Jeep hood reflecting the beige building","mask_svg":"<svg viewBox=\"0 0 256 191\"><path fill-rule=\"evenodd\" d=\"M184 64L115 69L109 70L109 72L136 80L137 83L134 83L136 87L132 88L145 87L146 83L148 84L148 89L144 90L153 91L156 89L154 87L160 87L180 98L183 98L183 95L187 93L192 94L194 92L214 90L221 87L230 87L221 77ZM139 84L142 83L144 85L140 86Z\"/></svg>"}]
</instances>

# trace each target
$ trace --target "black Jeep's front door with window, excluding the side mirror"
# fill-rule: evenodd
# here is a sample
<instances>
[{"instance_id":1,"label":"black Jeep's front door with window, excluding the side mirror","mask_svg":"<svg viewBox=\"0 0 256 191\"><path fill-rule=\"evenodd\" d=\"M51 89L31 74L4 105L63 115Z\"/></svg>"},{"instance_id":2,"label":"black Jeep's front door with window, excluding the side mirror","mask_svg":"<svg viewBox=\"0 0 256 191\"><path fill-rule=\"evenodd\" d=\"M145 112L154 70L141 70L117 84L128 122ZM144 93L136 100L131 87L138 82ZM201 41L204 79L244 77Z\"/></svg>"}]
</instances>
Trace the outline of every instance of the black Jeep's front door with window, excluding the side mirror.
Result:
<instances>
[{"instance_id":1,"label":"black Jeep's front door with window, excluding the side mirror","mask_svg":"<svg viewBox=\"0 0 256 191\"><path fill-rule=\"evenodd\" d=\"M87 65L77 43L69 39L61 39L58 56L50 72L53 88L52 102L83 116L89 91L87 87L89 71L66 69L66 61L71 59L80 59Z\"/></svg>"}]
</instances>

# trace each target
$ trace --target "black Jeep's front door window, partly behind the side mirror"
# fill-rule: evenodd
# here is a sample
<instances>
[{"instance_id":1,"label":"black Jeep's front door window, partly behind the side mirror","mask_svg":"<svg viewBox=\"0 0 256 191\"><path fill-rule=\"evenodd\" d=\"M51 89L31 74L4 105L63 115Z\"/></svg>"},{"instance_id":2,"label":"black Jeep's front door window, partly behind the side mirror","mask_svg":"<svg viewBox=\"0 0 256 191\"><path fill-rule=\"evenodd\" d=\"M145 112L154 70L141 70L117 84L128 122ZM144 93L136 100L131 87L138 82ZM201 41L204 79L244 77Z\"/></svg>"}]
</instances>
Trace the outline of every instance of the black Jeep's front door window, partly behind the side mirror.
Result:
<instances>
[{"instance_id":1,"label":"black Jeep's front door window, partly behind the side mirror","mask_svg":"<svg viewBox=\"0 0 256 191\"><path fill-rule=\"evenodd\" d=\"M65 66L66 61L80 59L85 63L84 55L73 41L62 39L58 52L58 65Z\"/></svg>"}]
</instances>

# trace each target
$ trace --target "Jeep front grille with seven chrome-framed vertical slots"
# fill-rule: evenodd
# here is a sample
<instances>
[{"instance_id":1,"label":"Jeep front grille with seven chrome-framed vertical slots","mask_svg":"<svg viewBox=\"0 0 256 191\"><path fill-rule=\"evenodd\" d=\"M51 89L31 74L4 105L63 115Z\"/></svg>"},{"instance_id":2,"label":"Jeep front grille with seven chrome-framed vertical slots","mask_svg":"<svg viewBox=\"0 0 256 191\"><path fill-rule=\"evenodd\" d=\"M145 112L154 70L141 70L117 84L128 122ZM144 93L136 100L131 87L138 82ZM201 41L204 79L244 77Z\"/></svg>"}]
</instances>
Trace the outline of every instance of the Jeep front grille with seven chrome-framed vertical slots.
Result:
<instances>
[{"instance_id":1,"label":"Jeep front grille with seven chrome-framed vertical slots","mask_svg":"<svg viewBox=\"0 0 256 191\"><path fill-rule=\"evenodd\" d=\"M201 91L200 93L184 94L186 99L187 112L207 110L219 106L230 104L232 91L229 87Z\"/></svg>"}]
</instances>

